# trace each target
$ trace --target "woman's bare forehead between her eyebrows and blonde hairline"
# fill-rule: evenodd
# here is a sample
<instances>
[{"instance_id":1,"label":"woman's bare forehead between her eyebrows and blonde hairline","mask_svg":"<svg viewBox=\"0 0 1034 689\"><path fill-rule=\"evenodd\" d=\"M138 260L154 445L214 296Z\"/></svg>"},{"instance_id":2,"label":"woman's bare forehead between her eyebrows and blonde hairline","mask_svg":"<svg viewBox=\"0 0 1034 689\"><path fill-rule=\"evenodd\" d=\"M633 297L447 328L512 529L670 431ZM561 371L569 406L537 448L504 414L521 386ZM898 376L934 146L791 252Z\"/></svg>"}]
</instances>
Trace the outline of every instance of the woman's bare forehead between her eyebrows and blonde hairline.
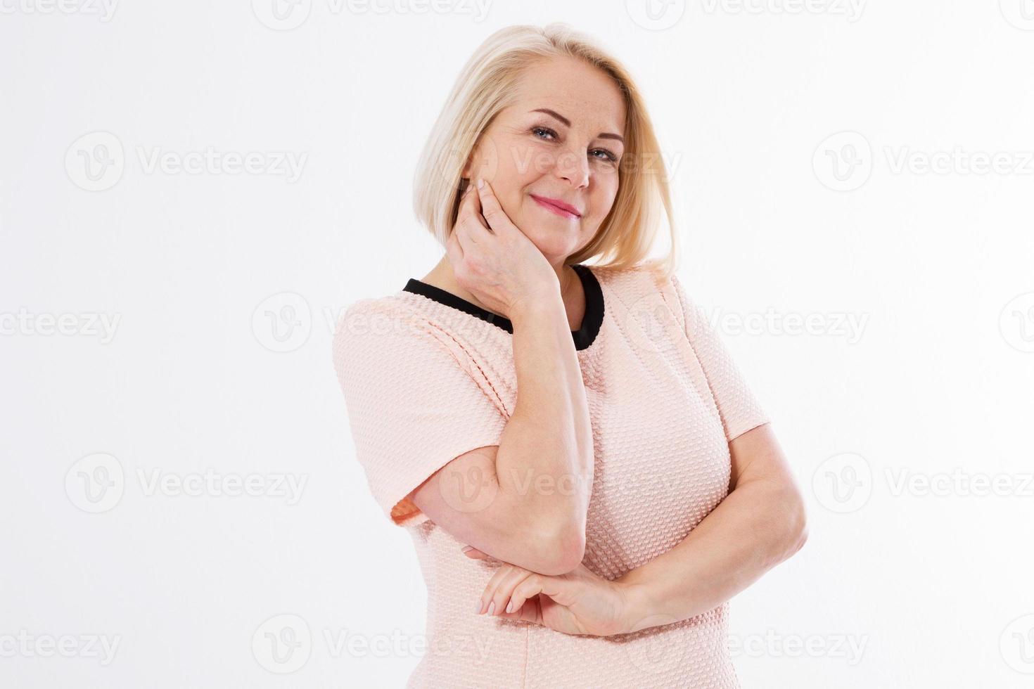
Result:
<instances>
[{"instance_id":1,"label":"woman's bare forehead between her eyebrows and blonde hairline","mask_svg":"<svg viewBox=\"0 0 1034 689\"><path fill-rule=\"evenodd\" d=\"M548 107L571 120L575 129L625 133L625 99L614 80L598 67L573 58L548 58L521 74L511 112ZM538 115L538 114L537 114Z\"/></svg>"}]
</instances>

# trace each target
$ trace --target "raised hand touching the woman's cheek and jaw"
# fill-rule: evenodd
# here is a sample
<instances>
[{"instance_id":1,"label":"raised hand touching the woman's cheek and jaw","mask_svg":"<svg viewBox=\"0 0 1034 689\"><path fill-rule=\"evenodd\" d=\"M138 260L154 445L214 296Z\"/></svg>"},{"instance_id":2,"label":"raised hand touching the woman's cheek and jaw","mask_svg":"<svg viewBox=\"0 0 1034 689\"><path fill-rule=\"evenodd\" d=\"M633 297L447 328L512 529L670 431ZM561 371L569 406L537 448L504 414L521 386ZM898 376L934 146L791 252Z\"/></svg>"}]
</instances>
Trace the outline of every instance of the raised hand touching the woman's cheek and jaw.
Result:
<instances>
[{"instance_id":1,"label":"raised hand touching the woman's cheek and jaw","mask_svg":"<svg viewBox=\"0 0 1034 689\"><path fill-rule=\"evenodd\" d=\"M456 281L508 318L524 305L559 295L556 272L504 212L491 185L470 180L446 244Z\"/></svg>"}]
</instances>

